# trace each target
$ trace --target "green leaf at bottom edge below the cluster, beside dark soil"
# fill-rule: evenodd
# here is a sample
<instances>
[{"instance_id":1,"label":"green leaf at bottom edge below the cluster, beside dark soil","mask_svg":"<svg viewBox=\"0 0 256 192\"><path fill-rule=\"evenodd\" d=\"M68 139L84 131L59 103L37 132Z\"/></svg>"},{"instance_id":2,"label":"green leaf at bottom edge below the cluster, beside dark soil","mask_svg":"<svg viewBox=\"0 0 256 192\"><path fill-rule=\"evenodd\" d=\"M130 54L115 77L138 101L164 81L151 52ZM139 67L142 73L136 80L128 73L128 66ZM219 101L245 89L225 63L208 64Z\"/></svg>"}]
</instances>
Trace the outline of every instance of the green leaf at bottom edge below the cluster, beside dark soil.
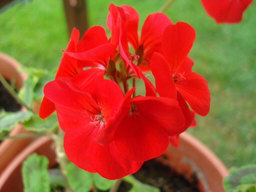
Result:
<instances>
[{"instance_id":1,"label":"green leaf at bottom edge below the cluster, beside dark soil","mask_svg":"<svg viewBox=\"0 0 256 192\"><path fill-rule=\"evenodd\" d=\"M132 188L129 190L129 192L160 192L160 189L151 185L143 184L139 180L136 180L135 177L128 175L124 177L124 181L128 182L132 185Z\"/></svg>"}]
</instances>

